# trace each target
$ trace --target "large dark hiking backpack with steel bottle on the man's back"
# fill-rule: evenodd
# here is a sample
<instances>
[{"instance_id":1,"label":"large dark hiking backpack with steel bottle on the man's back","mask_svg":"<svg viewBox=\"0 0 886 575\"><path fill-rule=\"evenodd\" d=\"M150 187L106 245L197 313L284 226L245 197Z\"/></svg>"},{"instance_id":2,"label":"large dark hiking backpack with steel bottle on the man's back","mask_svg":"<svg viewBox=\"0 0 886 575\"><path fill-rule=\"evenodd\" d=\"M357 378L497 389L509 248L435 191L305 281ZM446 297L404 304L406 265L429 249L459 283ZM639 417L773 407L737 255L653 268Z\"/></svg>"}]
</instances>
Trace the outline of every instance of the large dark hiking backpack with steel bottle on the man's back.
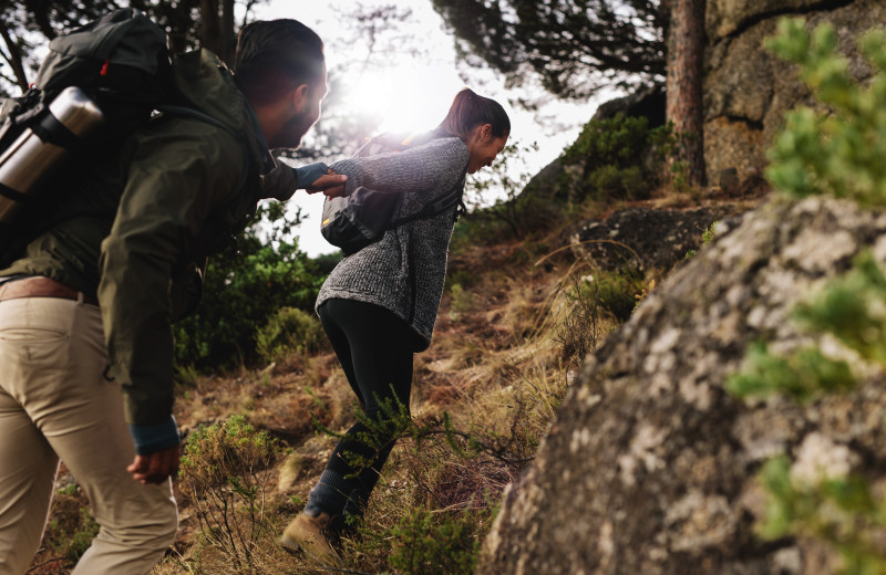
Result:
<instances>
[{"instance_id":1,"label":"large dark hiking backpack with steel bottle on the man's back","mask_svg":"<svg viewBox=\"0 0 886 575\"><path fill-rule=\"evenodd\" d=\"M166 32L132 8L50 42L32 87L0 106L0 262L58 223L41 217L50 190L65 188L47 185L53 175L74 160L80 172L89 170L155 109L212 123L239 139L176 98L171 69Z\"/></svg>"}]
</instances>

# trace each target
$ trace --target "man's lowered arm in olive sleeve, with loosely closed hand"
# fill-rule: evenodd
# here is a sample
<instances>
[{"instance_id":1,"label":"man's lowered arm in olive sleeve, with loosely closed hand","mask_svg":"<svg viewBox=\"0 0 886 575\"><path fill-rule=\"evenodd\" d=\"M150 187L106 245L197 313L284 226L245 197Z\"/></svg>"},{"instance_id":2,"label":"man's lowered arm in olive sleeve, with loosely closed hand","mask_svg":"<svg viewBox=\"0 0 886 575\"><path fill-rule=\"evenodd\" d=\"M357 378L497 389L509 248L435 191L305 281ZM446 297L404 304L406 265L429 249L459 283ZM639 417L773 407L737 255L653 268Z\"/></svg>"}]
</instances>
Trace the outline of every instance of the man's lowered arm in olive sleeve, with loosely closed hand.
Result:
<instances>
[{"instance_id":1,"label":"man's lowered arm in olive sleeve, with loosely closed hand","mask_svg":"<svg viewBox=\"0 0 886 575\"><path fill-rule=\"evenodd\" d=\"M136 136L114 226L102 242L99 301L114 377L137 457L134 478L162 481L176 469L172 417L173 339L169 284L209 211L237 191L239 144L194 121L186 129Z\"/></svg>"}]
</instances>

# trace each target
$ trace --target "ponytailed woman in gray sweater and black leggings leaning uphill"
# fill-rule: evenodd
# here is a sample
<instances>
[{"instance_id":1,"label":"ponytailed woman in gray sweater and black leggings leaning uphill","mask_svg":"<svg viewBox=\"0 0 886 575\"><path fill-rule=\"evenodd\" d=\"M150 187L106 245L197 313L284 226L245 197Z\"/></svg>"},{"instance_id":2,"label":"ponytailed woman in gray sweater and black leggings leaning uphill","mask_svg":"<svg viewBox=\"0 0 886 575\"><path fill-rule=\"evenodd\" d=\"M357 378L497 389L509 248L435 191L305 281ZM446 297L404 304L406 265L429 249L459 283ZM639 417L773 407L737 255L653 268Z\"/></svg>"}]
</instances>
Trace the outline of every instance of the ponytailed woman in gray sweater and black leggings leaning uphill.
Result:
<instances>
[{"instance_id":1,"label":"ponytailed woman in gray sweater and black leggings leaning uphill","mask_svg":"<svg viewBox=\"0 0 886 575\"><path fill-rule=\"evenodd\" d=\"M504 108L465 88L427 144L347 159L331 169L348 176L346 194L359 186L402 194L394 213L402 218L454 186L464 189L465 171L490 166L509 133ZM371 421L385 419L382 406L409 406L412 355L431 344L456 209L388 230L344 258L320 290L317 312L323 330ZM367 441L367 431L358 421L339 441L305 511L284 532L282 545L338 563L327 534L341 529L340 518L362 513L393 447L393 438L379 437L378 429Z\"/></svg>"}]
</instances>

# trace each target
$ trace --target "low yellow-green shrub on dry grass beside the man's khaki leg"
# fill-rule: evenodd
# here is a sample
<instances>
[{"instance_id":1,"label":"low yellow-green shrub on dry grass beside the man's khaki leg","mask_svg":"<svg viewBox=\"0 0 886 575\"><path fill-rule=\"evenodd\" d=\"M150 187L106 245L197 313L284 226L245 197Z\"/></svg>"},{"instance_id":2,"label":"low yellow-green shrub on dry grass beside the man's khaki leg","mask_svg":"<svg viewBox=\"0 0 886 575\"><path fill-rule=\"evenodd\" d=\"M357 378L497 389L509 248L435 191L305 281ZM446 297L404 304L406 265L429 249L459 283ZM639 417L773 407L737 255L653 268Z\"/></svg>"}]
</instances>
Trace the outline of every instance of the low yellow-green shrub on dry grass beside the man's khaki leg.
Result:
<instances>
[{"instance_id":1,"label":"low yellow-green shrub on dry grass beside the man's khaki leg","mask_svg":"<svg viewBox=\"0 0 886 575\"><path fill-rule=\"evenodd\" d=\"M266 494L279 442L241 416L200 427L188 436L178 471L205 542L237 573L249 573L260 556L259 542L272 545Z\"/></svg>"}]
</instances>

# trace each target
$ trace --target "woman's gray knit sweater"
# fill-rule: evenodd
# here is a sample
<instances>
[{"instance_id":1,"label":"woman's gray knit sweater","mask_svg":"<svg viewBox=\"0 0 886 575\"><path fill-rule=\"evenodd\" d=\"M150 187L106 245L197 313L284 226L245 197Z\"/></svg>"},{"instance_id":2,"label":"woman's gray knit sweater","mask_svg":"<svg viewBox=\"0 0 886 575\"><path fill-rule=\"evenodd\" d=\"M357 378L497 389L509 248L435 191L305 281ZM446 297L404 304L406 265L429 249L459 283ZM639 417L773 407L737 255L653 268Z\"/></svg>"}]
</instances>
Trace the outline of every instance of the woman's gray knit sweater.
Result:
<instances>
[{"instance_id":1,"label":"woman's gray knit sweater","mask_svg":"<svg viewBox=\"0 0 886 575\"><path fill-rule=\"evenodd\" d=\"M346 194L358 186L401 194L394 218L418 212L453 186L464 187L467 146L459 138L434 139L394 154L338 161L330 166L348 176ZM340 297L385 307L405 320L424 341L434 333L455 208L388 230L381 240L344 258L317 297ZM416 351L421 351L416 349Z\"/></svg>"}]
</instances>

